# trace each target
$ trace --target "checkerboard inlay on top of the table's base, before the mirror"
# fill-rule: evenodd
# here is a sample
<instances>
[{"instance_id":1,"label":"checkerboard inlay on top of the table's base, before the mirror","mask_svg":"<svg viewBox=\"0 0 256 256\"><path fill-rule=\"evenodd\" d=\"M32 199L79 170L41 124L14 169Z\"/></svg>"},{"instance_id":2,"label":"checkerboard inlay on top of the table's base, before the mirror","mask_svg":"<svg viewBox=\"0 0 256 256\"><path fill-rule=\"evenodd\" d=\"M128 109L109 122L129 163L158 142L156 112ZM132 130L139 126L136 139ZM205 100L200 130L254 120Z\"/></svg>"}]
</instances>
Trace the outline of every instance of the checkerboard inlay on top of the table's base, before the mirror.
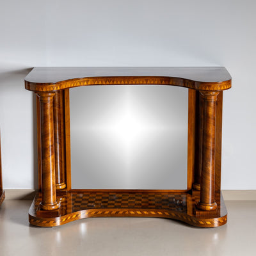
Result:
<instances>
[{"instance_id":1,"label":"checkerboard inlay on top of the table's base, before the mirror","mask_svg":"<svg viewBox=\"0 0 256 256\"><path fill-rule=\"evenodd\" d=\"M42 198L36 200L39 205ZM88 193L68 193L58 196L60 211L67 213L86 209L169 209L172 211L187 211L187 195L168 193L108 193L108 192L88 192Z\"/></svg>"}]
</instances>

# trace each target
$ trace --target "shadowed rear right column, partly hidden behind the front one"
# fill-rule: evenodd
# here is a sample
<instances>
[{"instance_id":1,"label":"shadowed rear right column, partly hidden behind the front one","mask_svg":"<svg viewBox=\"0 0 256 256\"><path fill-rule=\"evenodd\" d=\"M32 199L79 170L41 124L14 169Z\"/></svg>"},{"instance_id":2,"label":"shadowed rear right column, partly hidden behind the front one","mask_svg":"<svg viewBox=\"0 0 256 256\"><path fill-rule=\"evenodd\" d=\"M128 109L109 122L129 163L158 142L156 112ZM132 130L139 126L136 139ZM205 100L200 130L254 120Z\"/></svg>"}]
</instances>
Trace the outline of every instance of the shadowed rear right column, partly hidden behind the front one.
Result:
<instances>
[{"instance_id":1,"label":"shadowed rear right column, partly hidden behind the front one","mask_svg":"<svg viewBox=\"0 0 256 256\"><path fill-rule=\"evenodd\" d=\"M202 94L196 92L196 152L195 152L195 175L193 189L200 190L201 172L202 172L202 143L203 143L203 116L204 101Z\"/></svg>"}]
</instances>

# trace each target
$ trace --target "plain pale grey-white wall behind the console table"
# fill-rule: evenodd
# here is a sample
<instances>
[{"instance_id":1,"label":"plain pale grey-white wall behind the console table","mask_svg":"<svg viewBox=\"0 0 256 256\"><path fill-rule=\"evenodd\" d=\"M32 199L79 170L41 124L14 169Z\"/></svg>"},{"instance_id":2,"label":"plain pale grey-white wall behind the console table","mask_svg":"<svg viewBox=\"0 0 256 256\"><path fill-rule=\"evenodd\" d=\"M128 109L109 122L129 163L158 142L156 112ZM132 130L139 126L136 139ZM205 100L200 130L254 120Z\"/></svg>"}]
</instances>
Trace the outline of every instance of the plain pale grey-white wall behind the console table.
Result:
<instances>
[{"instance_id":1,"label":"plain pale grey-white wall behind the console table","mask_svg":"<svg viewBox=\"0 0 256 256\"><path fill-rule=\"evenodd\" d=\"M35 188L33 95L39 66L225 66L223 189L256 189L256 2L10 0L0 3L4 188Z\"/></svg>"}]
</instances>

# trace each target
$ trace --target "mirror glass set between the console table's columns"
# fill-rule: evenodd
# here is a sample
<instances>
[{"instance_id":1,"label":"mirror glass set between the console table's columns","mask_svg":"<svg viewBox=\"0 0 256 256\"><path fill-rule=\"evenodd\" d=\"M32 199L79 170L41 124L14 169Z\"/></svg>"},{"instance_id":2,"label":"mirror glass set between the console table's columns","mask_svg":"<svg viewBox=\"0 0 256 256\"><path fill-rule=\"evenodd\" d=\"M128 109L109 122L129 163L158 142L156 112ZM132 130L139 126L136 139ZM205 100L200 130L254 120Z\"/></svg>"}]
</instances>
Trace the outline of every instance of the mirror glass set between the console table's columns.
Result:
<instances>
[{"instance_id":1,"label":"mirror glass set between the console table's columns","mask_svg":"<svg viewBox=\"0 0 256 256\"><path fill-rule=\"evenodd\" d=\"M70 89L73 189L186 189L188 89Z\"/></svg>"}]
</instances>

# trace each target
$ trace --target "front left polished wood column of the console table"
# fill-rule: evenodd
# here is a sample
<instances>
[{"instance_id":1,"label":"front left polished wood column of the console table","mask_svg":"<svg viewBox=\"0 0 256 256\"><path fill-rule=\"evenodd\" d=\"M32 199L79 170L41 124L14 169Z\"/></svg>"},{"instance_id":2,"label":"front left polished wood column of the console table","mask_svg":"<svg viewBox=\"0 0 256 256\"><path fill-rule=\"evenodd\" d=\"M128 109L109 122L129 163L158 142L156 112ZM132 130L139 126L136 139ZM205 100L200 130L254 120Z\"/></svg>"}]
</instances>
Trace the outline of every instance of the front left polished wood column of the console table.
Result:
<instances>
[{"instance_id":1,"label":"front left polished wood column of the console table","mask_svg":"<svg viewBox=\"0 0 256 256\"><path fill-rule=\"evenodd\" d=\"M54 92L37 92L40 102L40 141L42 170L42 202L44 210L58 209L55 188L54 125L52 101Z\"/></svg>"}]
</instances>

